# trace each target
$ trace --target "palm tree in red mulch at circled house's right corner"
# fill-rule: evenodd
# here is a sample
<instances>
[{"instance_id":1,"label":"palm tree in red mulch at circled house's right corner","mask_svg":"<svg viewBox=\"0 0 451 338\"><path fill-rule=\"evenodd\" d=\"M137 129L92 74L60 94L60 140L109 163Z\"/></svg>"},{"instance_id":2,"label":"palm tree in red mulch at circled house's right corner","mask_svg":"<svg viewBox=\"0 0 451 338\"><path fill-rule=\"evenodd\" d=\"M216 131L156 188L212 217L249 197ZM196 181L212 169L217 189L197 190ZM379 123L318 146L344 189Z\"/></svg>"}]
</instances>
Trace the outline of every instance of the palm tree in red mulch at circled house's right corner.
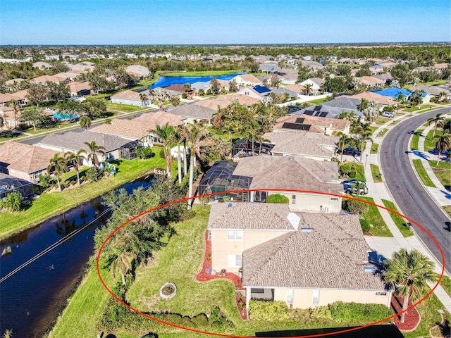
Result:
<instances>
[{"instance_id":1,"label":"palm tree in red mulch at circled house's right corner","mask_svg":"<svg viewBox=\"0 0 451 338\"><path fill-rule=\"evenodd\" d=\"M438 276L433 272L434 263L420 251L413 249L407 252L401 249L393 253L393 258L384 262L384 280L393 285L395 294L404 297L402 311L407 309L409 298L421 299L428 289L427 282L435 282ZM404 323L402 313L400 322Z\"/></svg>"}]
</instances>

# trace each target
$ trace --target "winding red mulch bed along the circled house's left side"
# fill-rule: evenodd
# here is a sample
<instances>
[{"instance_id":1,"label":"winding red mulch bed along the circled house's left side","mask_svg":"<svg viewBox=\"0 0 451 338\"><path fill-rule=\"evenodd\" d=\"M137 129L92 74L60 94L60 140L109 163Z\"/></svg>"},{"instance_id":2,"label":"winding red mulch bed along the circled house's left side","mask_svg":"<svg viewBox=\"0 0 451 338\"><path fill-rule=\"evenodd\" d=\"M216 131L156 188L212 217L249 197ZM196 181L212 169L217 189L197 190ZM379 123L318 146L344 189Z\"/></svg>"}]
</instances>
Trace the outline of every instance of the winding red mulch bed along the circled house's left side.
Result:
<instances>
[{"instance_id":1,"label":"winding red mulch bed along the circled house's left side","mask_svg":"<svg viewBox=\"0 0 451 338\"><path fill-rule=\"evenodd\" d=\"M235 289L237 291L242 291L241 294L245 294L245 290L242 289L241 277L235 275L235 273L226 273L223 276L218 276L217 274L211 275L211 241L209 241L209 232L205 232L205 253L204 253L204 263L202 264L202 270L197 274L196 280L199 282L206 282L207 280L216 280L217 278L227 278L235 284ZM243 320L247 320L246 315L246 299L243 296L235 296L235 301L237 303L238 312Z\"/></svg>"}]
</instances>

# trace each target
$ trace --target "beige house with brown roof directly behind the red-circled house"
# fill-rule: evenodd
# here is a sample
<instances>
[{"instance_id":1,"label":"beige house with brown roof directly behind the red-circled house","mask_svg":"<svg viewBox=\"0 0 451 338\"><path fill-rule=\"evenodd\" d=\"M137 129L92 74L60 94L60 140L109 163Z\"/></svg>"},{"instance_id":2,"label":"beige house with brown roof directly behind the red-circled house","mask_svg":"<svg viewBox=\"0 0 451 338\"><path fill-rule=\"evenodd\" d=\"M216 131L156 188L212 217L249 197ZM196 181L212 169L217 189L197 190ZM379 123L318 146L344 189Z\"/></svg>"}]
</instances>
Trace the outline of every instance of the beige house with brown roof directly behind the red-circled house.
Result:
<instances>
[{"instance_id":1,"label":"beige house with brown roof directly behind the red-circled house","mask_svg":"<svg viewBox=\"0 0 451 338\"><path fill-rule=\"evenodd\" d=\"M316 161L301 156L250 156L241 158L233 175L252 177L249 189L250 201L265 201L266 197L279 191L290 199L292 211L341 210L342 184L338 180L336 162ZM284 189L326 192L338 196L282 192Z\"/></svg>"}]
</instances>

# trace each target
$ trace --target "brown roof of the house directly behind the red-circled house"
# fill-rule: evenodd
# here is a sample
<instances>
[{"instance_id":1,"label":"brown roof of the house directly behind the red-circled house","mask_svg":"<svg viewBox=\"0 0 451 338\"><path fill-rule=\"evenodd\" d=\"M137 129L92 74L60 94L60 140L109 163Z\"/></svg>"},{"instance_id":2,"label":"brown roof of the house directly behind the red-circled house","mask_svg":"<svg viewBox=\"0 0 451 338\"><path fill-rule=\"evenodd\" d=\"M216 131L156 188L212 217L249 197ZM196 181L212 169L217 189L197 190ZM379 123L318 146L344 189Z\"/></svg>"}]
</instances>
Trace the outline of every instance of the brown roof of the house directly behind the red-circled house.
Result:
<instances>
[{"instance_id":1,"label":"brown roof of the house directly behind the red-circled house","mask_svg":"<svg viewBox=\"0 0 451 338\"><path fill-rule=\"evenodd\" d=\"M233 175L252 177L249 189L299 189L340 194L336 162L301 156L251 156L241 158Z\"/></svg>"}]
</instances>

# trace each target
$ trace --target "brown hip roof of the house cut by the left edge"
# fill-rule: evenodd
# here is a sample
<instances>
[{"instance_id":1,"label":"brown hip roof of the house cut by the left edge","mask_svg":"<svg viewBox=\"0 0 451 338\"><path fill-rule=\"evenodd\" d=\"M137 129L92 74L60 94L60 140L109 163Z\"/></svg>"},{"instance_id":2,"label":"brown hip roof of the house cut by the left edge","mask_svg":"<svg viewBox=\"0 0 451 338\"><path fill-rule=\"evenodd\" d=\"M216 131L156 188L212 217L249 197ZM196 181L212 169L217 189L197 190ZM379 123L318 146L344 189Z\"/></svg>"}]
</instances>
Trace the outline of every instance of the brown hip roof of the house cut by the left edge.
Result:
<instances>
[{"instance_id":1,"label":"brown hip roof of the house cut by the left edge","mask_svg":"<svg viewBox=\"0 0 451 338\"><path fill-rule=\"evenodd\" d=\"M58 151L42 149L39 146L8 141L0 146L0 162L8 169L23 173L35 173L47 169L49 161Z\"/></svg>"}]
</instances>

